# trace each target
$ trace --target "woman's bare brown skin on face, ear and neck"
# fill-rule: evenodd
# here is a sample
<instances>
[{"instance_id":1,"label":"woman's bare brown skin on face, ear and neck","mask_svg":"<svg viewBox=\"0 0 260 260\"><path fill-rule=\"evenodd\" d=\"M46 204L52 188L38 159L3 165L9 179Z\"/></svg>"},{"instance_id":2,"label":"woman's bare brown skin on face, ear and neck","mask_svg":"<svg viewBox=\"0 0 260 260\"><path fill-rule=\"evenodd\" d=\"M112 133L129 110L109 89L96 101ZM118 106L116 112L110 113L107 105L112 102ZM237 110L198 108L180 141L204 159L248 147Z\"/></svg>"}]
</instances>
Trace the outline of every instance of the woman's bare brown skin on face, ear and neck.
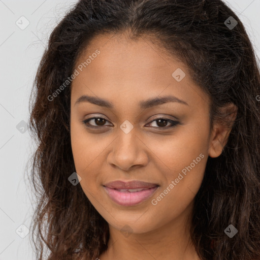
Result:
<instances>
[{"instance_id":1,"label":"woman's bare brown skin on face, ear and neck","mask_svg":"<svg viewBox=\"0 0 260 260\"><path fill-rule=\"evenodd\" d=\"M167 55L145 38L129 40L125 35L100 35L79 57L77 66L100 50L100 54L73 80L71 91L71 144L80 185L95 209L109 224L105 259L170 260L200 259L190 240L189 227L193 200L204 177L208 156L221 154L230 130L215 124L210 131L209 97L192 82L182 62ZM76 66L76 67L77 67ZM76 68L75 67L75 68ZM180 68L186 76L177 82L173 72ZM111 102L113 109L89 102L75 105L82 95ZM140 101L174 95L188 105L168 102L147 109ZM235 114L231 105L223 108ZM233 115L232 114L232 115ZM159 116L180 123L167 128ZM108 121L89 124L93 116ZM128 120L132 131L125 134L120 125ZM100 126L99 126L100 125ZM105 128L102 125L105 125ZM165 130L164 130L165 129ZM177 185L152 205L179 173L200 154L204 158ZM159 184L153 196L139 205L124 207L105 192L105 183L141 180ZM120 230L128 225L128 236Z\"/></svg>"}]
</instances>

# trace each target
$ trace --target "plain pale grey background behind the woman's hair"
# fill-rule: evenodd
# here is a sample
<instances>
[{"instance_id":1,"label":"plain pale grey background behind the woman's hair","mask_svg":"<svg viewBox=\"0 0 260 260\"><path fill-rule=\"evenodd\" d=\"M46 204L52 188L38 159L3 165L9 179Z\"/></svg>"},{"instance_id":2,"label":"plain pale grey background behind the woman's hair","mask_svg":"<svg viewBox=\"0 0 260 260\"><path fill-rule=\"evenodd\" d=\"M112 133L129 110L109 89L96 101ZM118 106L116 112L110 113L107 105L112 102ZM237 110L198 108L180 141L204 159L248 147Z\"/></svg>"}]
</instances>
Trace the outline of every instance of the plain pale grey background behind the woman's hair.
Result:
<instances>
[{"instance_id":1,"label":"plain pale grey background behind the woman's hair","mask_svg":"<svg viewBox=\"0 0 260 260\"><path fill-rule=\"evenodd\" d=\"M50 32L76 2L0 0L0 260L35 259L26 235L35 206L25 173L35 149L26 131L28 99ZM244 23L260 57L260 0L226 2Z\"/></svg>"}]
</instances>

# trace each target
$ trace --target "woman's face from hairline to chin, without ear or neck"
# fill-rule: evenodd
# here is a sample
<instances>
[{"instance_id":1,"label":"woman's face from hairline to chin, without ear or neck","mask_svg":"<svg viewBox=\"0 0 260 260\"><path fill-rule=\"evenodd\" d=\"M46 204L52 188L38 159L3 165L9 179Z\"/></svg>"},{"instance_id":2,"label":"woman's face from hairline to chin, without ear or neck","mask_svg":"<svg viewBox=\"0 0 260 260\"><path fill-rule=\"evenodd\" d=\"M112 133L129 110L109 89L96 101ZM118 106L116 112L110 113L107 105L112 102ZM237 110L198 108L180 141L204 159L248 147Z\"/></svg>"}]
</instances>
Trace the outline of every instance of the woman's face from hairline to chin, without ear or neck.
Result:
<instances>
[{"instance_id":1,"label":"woman's face from hairline to chin, without ear or neck","mask_svg":"<svg viewBox=\"0 0 260 260\"><path fill-rule=\"evenodd\" d=\"M96 37L75 69L71 142L89 201L110 226L138 234L186 219L213 154L208 96L143 38ZM148 184L108 188L134 180Z\"/></svg>"}]
</instances>

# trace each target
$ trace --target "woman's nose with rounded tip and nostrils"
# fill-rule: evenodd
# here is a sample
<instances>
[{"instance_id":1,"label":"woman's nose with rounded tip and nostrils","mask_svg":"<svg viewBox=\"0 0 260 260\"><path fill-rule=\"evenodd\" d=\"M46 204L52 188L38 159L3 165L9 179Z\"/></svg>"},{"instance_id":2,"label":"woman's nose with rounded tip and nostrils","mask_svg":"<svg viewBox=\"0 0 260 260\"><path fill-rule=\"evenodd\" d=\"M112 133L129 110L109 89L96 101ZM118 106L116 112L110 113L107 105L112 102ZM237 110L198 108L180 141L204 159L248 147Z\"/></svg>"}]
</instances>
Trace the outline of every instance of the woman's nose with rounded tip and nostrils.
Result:
<instances>
[{"instance_id":1,"label":"woman's nose with rounded tip and nostrils","mask_svg":"<svg viewBox=\"0 0 260 260\"><path fill-rule=\"evenodd\" d=\"M136 135L134 129L127 134L120 129L107 161L113 167L130 171L148 164L148 150L149 148L141 140L141 137Z\"/></svg>"}]
</instances>

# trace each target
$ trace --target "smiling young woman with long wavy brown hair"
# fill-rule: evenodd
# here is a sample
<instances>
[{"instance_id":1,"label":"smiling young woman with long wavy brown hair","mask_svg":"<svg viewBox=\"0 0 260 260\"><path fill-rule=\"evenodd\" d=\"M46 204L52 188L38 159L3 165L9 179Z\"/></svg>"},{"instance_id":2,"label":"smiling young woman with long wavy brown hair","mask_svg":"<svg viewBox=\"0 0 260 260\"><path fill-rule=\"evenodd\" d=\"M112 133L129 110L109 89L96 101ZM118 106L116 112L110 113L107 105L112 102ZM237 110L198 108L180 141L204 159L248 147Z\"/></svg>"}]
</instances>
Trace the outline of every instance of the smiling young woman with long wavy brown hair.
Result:
<instances>
[{"instance_id":1,"label":"smiling young woman with long wavy brown hair","mask_svg":"<svg viewBox=\"0 0 260 260\"><path fill-rule=\"evenodd\" d=\"M220 0L79 1L31 96L37 259L259 259L259 83Z\"/></svg>"}]
</instances>

